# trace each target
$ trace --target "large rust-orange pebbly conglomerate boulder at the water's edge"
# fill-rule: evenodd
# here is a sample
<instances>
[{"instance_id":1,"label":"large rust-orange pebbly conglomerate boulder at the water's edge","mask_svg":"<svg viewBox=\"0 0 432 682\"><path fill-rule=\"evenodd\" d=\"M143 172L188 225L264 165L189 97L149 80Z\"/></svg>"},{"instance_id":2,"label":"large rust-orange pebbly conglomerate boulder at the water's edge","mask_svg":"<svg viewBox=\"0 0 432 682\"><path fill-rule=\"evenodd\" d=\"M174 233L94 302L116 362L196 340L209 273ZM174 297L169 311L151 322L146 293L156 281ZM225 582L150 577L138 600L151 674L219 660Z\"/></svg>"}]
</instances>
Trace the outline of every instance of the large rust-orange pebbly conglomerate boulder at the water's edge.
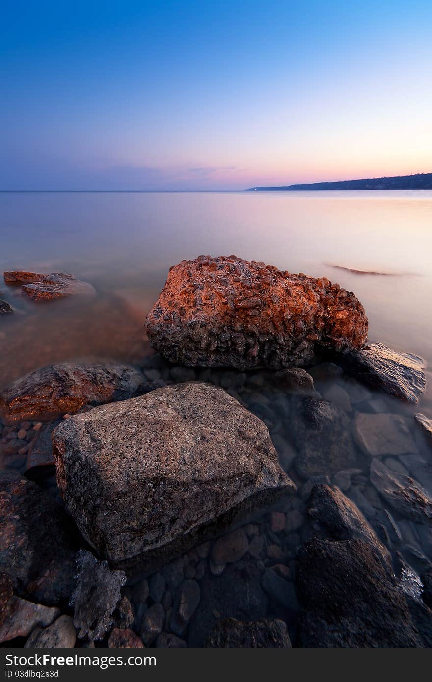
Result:
<instances>
[{"instance_id":1,"label":"large rust-orange pebbly conglomerate boulder at the water's edge","mask_svg":"<svg viewBox=\"0 0 432 682\"><path fill-rule=\"evenodd\" d=\"M172 267L146 325L173 362L239 369L300 366L319 347L361 349L368 332L362 304L339 284L236 256Z\"/></svg>"}]
</instances>

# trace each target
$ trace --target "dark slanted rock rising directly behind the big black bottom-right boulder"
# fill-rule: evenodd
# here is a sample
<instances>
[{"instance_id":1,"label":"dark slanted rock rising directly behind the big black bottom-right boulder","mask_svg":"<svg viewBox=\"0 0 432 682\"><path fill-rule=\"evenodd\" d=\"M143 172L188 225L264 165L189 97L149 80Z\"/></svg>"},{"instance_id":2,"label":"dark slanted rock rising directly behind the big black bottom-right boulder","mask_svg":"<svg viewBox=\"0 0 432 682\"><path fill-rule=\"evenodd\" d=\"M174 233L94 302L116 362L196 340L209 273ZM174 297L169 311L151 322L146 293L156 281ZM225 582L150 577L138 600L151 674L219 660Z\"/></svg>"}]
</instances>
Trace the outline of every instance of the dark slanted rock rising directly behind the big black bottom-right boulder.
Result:
<instances>
[{"instance_id":1,"label":"dark slanted rock rising directly behind the big black bottom-right boulder","mask_svg":"<svg viewBox=\"0 0 432 682\"><path fill-rule=\"evenodd\" d=\"M360 539L368 542L391 569L388 549L379 541L358 507L336 486L318 485L312 489L308 516L315 522L315 530L322 529L324 537L334 540Z\"/></svg>"}]
</instances>

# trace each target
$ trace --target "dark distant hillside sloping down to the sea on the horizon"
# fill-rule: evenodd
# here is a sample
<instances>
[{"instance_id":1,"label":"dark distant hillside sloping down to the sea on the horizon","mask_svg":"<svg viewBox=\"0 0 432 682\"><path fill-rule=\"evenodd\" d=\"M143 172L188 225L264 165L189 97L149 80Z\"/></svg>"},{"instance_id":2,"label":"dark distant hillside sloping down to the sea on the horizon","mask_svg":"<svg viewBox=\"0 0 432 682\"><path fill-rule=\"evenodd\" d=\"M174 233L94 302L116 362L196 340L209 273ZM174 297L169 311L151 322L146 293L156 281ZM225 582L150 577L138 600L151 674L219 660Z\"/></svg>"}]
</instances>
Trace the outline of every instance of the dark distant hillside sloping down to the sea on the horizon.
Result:
<instances>
[{"instance_id":1,"label":"dark distant hillside sloping down to the sea on the horizon","mask_svg":"<svg viewBox=\"0 0 432 682\"><path fill-rule=\"evenodd\" d=\"M311 185L289 185L289 187L252 187L246 192L278 192L307 190L432 190L432 173L396 175L395 177L369 177L364 180L338 180L336 182L314 182Z\"/></svg>"}]
</instances>

